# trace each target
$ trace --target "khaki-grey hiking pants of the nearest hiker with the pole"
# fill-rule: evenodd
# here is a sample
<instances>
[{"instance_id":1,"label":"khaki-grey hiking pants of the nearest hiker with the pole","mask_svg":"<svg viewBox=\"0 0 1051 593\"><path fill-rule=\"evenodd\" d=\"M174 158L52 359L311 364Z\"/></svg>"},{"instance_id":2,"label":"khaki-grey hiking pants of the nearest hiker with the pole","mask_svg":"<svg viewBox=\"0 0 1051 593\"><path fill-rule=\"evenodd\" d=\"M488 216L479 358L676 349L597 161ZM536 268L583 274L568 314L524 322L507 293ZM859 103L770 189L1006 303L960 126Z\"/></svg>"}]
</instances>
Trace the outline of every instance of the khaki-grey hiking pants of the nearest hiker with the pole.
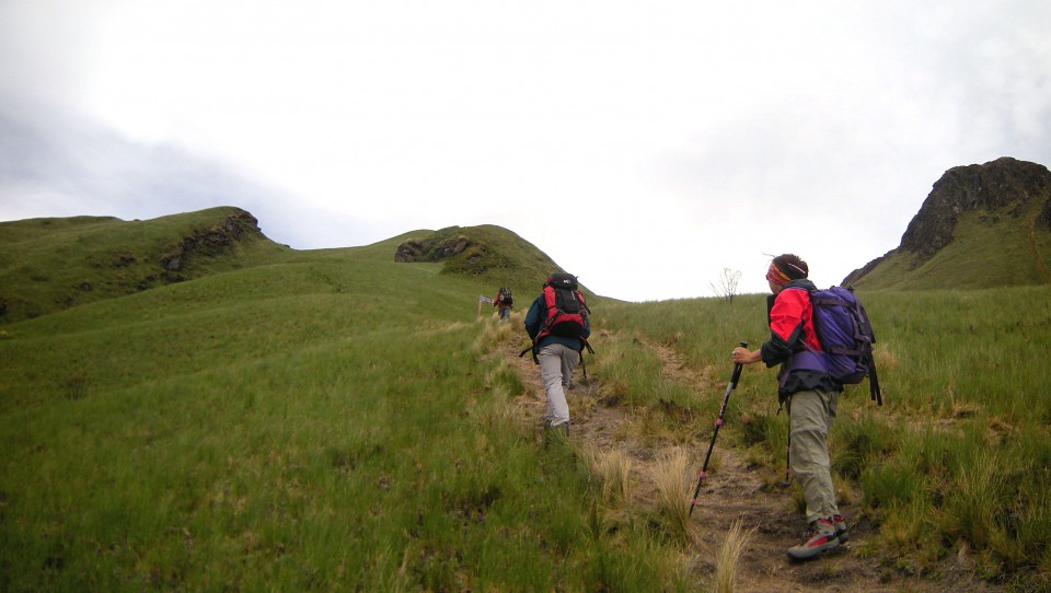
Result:
<instances>
[{"instance_id":1,"label":"khaki-grey hiking pants of the nearest hiker with the pole","mask_svg":"<svg viewBox=\"0 0 1051 593\"><path fill-rule=\"evenodd\" d=\"M802 487L807 522L839 514L832 486L828 438L835 419L836 392L798 392L788 398L788 456L792 474Z\"/></svg>"}]
</instances>

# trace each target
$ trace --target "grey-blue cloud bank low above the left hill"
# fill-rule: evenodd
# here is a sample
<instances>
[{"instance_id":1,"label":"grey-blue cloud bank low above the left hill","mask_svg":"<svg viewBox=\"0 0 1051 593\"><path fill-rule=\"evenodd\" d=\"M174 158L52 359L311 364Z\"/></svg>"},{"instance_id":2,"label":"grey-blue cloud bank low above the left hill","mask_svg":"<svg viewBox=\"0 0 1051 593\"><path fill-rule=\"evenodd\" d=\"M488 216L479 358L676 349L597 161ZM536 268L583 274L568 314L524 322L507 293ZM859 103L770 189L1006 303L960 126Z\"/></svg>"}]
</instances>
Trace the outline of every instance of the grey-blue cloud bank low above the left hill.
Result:
<instances>
[{"instance_id":1,"label":"grey-blue cloud bank low above the left hill","mask_svg":"<svg viewBox=\"0 0 1051 593\"><path fill-rule=\"evenodd\" d=\"M351 217L303 208L290 194L252 181L230 163L173 144L132 142L59 112L10 106L0 103L0 220L151 219L238 206L253 212L270 239L298 248L366 234ZM319 242L319 234L325 240Z\"/></svg>"}]
</instances>

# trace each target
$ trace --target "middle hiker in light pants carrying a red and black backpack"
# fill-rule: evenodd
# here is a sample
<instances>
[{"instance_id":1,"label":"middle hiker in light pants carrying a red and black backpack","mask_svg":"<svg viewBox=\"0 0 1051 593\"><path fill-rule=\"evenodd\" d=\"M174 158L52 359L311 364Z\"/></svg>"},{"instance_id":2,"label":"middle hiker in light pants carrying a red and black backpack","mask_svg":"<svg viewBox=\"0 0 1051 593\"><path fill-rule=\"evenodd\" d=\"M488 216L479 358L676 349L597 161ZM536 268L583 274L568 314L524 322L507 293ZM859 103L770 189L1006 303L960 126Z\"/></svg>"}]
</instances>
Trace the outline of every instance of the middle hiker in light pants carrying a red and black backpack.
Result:
<instances>
[{"instance_id":1,"label":"middle hiker in light pants carrying a red and black backpack","mask_svg":"<svg viewBox=\"0 0 1051 593\"><path fill-rule=\"evenodd\" d=\"M584 349L591 335L588 305L577 290L577 277L556 272L547 277L544 290L526 313L526 332L533 340L521 356L532 350L540 364L540 376L547 395L544 426L569 434L569 388L573 371L584 360Z\"/></svg>"}]
</instances>

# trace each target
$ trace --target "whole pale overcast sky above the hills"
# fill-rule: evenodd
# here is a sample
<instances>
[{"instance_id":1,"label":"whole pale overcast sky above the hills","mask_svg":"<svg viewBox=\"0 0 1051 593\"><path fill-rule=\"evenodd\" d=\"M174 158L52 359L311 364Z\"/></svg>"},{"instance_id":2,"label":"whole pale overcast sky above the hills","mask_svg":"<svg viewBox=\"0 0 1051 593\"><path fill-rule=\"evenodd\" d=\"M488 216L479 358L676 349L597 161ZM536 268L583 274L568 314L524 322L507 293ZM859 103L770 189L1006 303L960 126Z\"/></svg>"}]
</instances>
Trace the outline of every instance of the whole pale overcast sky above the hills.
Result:
<instances>
[{"instance_id":1,"label":"whole pale overcast sky above the hills","mask_svg":"<svg viewBox=\"0 0 1051 593\"><path fill-rule=\"evenodd\" d=\"M831 286L947 170L1051 165L1049 30L1047 0L0 0L0 221L497 224L604 296L764 292L781 253Z\"/></svg>"}]
</instances>

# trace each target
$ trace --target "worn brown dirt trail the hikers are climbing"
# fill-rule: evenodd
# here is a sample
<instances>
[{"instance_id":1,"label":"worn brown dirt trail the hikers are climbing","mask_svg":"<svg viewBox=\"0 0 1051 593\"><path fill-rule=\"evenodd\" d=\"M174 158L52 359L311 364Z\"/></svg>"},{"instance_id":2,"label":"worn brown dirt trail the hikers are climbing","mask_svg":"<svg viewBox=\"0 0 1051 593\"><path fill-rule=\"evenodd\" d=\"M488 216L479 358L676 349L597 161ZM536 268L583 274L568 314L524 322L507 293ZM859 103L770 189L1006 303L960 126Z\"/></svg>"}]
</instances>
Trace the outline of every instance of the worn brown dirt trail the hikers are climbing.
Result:
<instances>
[{"instance_id":1,"label":"worn brown dirt trail the hikers are climbing","mask_svg":"<svg viewBox=\"0 0 1051 593\"><path fill-rule=\"evenodd\" d=\"M513 341L513 340L512 340ZM715 387L682 363L670 348L647 342L663 361L666 379L694 387L697 393L712 393ZM519 396L517 404L527 410L541 430L541 416L544 412L545 396L540 381L540 371L529 357L518 358L517 351L509 345L508 360L518 371L527 385L527 393ZM575 379L580 379L577 371ZM719 386L721 395L725 386ZM596 447L609 451L617 449L632 460L634 479L633 504L646 504L652 500L655 491L652 474L663 450L672 450L674 443L654 445L640 442L639 431L630 430L636 420L631 417L624 405L609 405L600 388L594 384L575 385L568 393L570 407L570 440L582 447ZM713 422L715 418L712 419ZM715 451L718 455L717 470L709 464L708 476L697 498L692 521L696 527L695 544L691 567L701 578L707 578L715 570L715 553L726 537L731 524L742 520L746 530L754 528L746 546L738 571L738 591L781 592L781 591L825 591L825 592L942 592L955 593L1000 591L988 583L973 578L967 570L966 560L949 559L942 570L942 579L932 581L909 577L893 570L893 561L857 551L865 547L866 540L874 537L876 527L861 516L857 502L841 503L840 510L851 526L850 542L840 549L807 562L792 562L785 550L802 540L805 519L793 509L793 490L769 488L759 470L749 469L738 451L727 444L723 431L735 430L734 419L720 429ZM693 480L703 463L709 438L704 442L691 443L690 470ZM715 455L713 456L715 458ZM688 498L692 493L683 492ZM856 497L861 500L861 497Z\"/></svg>"}]
</instances>

